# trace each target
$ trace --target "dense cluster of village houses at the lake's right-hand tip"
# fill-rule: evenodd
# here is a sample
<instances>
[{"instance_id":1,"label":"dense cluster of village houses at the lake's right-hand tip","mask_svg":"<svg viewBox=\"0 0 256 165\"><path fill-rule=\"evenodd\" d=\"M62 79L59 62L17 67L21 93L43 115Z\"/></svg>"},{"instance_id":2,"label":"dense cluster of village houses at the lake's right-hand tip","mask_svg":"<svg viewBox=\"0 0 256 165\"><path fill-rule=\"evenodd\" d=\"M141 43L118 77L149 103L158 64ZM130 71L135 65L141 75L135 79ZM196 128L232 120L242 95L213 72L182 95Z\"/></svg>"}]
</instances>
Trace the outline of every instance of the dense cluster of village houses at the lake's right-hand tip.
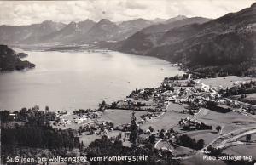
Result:
<instances>
[{"instance_id":1,"label":"dense cluster of village houses at the lake's right-hand tip","mask_svg":"<svg viewBox=\"0 0 256 165\"><path fill-rule=\"evenodd\" d=\"M230 111L234 108L241 108L243 112L248 112L251 114L255 114L256 111L256 105L221 97L221 95L218 94L218 92L211 88L209 85L199 81L190 79L165 79L165 81L160 86L160 91L163 91L163 89L165 89L164 87L166 86L172 87L172 90L166 90L160 93L160 100L172 101L173 103L177 104L186 103L189 105L199 106L205 106L207 103L212 102L214 105L212 108L218 109L219 112Z\"/></svg>"}]
</instances>

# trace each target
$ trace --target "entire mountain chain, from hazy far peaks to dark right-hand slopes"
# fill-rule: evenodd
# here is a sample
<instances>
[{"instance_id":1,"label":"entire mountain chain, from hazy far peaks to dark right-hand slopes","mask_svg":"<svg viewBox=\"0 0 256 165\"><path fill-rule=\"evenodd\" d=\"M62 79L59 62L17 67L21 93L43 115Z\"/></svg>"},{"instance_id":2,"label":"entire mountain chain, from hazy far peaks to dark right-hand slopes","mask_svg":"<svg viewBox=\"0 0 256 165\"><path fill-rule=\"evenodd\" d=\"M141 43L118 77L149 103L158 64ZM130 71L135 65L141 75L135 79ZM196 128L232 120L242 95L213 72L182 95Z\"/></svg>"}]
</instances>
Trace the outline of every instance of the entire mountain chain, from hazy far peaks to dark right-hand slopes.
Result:
<instances>
[{"instance_id":1,"label":"entire mountain chain, from hazy far peaks to dark right-hand slopes","mask_svg":"<svg viewBox=\"0 0 256 165\"><path fill-rule=\"evenodd\" d=\"M0 26L0 44L94 44L120 52L154 56L200 77L256 76L256 3L218 19L184 15L154 20L63 24L46 20L30 26Z\"/></svg>"}]
</instances>

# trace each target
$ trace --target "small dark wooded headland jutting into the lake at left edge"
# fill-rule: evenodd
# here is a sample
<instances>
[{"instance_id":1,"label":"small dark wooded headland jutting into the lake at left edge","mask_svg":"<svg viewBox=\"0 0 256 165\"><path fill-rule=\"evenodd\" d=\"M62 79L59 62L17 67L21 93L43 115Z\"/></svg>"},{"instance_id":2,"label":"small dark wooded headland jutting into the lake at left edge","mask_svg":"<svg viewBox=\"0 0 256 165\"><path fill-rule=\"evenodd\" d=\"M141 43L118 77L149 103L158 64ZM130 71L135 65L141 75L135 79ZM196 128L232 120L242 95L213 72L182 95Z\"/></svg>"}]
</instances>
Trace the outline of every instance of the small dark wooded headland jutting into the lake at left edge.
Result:
<instances>
[{"instance_id":1,"label":"small dark wooded headland jutting into the lake at left edge","mask_svg":"<svg viewBox=\"0 0 256 165\"><path fill-rule=\"evenodd\" d=\"M0 45L0 71L23 70L33 68L34 64L20 60L19 56L7 45Z\"/></svg>"}]
</instances>

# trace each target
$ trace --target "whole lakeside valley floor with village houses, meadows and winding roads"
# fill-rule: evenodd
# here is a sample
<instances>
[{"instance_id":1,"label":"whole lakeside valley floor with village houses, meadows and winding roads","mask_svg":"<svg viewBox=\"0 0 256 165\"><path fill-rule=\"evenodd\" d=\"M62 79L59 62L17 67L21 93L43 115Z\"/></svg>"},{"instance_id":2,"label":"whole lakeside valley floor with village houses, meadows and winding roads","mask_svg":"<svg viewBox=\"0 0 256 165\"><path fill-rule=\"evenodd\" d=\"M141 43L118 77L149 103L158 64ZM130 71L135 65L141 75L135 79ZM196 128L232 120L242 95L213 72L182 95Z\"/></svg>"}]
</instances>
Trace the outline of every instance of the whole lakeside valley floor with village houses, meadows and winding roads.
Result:
<instances>
[{"instance_id":1,"label":"whole lakeside valley floor with village houses, meadows and winding roads","mask_svg":"<svg viewBox=\"0 0 256 165\"><path fill-rule=\"evenodd\" d=\"M21 121L14 122L21 126L28 117L44 117L39 124L49 122L57 130L73 132L84 149L105 136L131 147L134 120L137 146L150 143L160 151L159 156L186 162L218 149L233 155L245 150L256 153L255 104L245 96L255 94L256 80L215 80L211 84L208 79L193 79L189 74L166 77L157 88L135 89L123 100L102 101L95 110L50 111L46 106L42 111L36 105L9 113L9 119Z\"/></svg>"}]
</instances>

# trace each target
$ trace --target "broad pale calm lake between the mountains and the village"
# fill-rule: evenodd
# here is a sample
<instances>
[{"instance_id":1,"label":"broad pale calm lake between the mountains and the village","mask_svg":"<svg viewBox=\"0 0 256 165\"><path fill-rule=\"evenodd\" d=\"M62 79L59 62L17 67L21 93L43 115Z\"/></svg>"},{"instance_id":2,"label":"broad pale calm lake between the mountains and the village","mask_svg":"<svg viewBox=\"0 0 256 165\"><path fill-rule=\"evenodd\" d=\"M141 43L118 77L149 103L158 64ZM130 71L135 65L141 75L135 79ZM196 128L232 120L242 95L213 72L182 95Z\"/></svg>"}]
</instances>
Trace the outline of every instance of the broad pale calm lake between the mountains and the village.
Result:
<instances>
[{"instance_id":1,"label":"broad pale calm lake between the mountains and the village","mask_svg":"<svg viewBox=\"0 0 256 165\"><path fill-rule=\"evenodd\" d=\"M23 51L24 52L24 51ZM0 109L39 105L51 111L96 108L135 88L157 87L182 74L165 60L119 52L25 51L36 68L0 73Z\"/></svg>"}]
</instances>

